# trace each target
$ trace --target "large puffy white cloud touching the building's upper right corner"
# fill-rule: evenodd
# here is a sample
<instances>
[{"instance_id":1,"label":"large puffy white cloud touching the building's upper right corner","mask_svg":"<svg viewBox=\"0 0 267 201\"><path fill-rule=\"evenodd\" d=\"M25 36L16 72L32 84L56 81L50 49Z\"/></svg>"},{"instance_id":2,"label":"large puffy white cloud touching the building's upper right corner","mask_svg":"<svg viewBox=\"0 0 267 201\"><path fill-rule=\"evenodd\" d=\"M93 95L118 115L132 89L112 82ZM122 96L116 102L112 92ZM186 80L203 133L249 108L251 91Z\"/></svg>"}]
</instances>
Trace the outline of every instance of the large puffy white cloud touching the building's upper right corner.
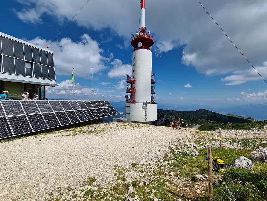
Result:
<instances>
[{"instance_id":1,"label":"large puffy white cloud touching the building's upper right corner","mask_svg":"<svg viewBox=\"0 0 267 201\"><path fill-rule=\"evenodd\" d=\"M51 41L37 37L28 42L46 47ZM62 38L60 42L52 42L49 49L54 52L56 75L71 77L74 68L74 77L91 78L92 66L94 72L107 68L106 62L113 58L113 54L109 58L101 56L100 53L103 50L99 48L99 45L88 34L82 35L80 42L73 42L70 38Z\"/></svg>"}]
</instances>

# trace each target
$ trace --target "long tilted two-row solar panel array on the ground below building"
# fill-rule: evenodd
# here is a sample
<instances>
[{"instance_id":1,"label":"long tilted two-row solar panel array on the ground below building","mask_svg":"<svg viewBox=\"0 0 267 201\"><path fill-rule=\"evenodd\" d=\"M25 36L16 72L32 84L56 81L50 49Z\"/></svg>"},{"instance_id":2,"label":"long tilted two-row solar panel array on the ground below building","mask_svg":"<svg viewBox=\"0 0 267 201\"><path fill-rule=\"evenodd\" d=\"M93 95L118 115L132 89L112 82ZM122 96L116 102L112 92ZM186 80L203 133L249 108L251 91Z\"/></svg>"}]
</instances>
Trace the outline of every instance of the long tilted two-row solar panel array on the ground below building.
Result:
<instances>
[{"instance_id":1,"label":"long tilted two-row solar panel array on the ground below building","mask_svg":"<svg viewBox=\"0 0 267 201\"><path fill-rule=\"evenodd\" d=\"M0 139L112 115L107 100L0 101Z\"/></svg>"}]
</instances>

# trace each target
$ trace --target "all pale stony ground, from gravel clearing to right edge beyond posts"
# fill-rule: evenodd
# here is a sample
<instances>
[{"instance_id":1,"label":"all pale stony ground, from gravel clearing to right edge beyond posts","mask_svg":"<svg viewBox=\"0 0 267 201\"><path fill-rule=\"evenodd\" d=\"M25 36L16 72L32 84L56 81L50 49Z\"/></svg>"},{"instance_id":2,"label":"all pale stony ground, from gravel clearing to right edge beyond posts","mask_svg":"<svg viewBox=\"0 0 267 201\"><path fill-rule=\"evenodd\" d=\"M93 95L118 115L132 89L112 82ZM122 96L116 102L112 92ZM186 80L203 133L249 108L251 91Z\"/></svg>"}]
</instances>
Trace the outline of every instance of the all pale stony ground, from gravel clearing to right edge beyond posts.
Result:
<instances>
[{"instance_id":1,"label":"all pale stony ground, from gravel clearing to right edge beyond posts","mask_svg":"<svg viewBox=\"0 0 267 201\"><path fill-rule=\"evenodd\" d=\"M222 138L225 147L250 148L267 139L267 132L223 131ZM142 200L148 196L160 201L164 196L154 194L161 180L166 188L179 189L174 191L179 196L187 191L203 193L204 174L191 186L190 179L176 175L170 164L175 162L174 153L185 154L183 160L188 160L206 143L219 146L218 131L134 123L103 123L3 142L0 200Z\"/></svg>"}]
</instances>

